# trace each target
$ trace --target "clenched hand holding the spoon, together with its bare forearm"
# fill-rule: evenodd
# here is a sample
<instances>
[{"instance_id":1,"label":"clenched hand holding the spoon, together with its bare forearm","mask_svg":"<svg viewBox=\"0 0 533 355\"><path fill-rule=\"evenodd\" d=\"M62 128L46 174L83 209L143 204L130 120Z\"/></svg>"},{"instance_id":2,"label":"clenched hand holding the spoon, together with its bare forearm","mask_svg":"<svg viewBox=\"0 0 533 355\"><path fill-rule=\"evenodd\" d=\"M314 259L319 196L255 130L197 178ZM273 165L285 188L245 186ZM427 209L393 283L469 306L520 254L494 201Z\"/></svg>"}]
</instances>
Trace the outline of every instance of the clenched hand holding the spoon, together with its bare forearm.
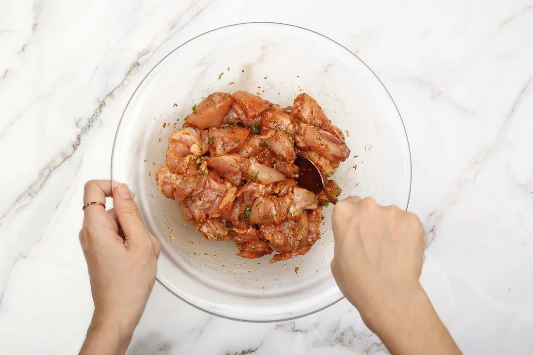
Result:
<instances>
[{"instance_id":1,"label":"clenched hand holding the spoon, together with its bare forearm","mask_svg":"<svg viewBox=\"0 0 533 355\"><path fill-rule=\"evenodd\" d=\"M333 276L389 351L460 353L418 280L427 243L418 217L351 196L335 205L332 222Z\"/></svg>"}]
</instances>

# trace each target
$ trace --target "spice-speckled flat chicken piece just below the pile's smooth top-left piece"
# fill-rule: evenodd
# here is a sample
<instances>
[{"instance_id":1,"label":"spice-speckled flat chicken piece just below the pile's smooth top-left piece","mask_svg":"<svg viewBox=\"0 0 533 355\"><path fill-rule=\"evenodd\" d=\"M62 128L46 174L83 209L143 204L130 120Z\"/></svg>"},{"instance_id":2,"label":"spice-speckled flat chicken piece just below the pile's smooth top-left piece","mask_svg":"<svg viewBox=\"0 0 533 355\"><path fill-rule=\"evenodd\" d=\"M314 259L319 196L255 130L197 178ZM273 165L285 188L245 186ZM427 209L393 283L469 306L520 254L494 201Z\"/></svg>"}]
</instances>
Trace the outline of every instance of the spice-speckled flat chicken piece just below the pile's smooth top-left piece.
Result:
<instances>
[{"instance_id":1,"label":"spice-speckled flat chicken piece just below the pile's smooth top-left piece","mask_svg":"<svg viewBox=\"0 0 533 355\"><path fill-rule=\"evenodd\" d=\"M249 128L224 126L221 129L209 129L209 152L211 156L226 155L239 150L250 137Z\"/></svg>"}]
</instances>

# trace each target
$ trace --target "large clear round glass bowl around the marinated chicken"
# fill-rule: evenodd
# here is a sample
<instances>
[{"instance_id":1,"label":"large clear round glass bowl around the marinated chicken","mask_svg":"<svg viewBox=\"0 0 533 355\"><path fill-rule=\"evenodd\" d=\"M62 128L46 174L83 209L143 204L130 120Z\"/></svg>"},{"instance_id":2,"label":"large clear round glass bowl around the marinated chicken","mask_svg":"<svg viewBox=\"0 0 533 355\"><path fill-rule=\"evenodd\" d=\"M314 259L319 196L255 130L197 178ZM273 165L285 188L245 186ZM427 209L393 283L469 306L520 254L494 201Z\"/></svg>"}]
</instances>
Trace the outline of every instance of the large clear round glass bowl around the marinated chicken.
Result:
<instances>
[{"instance_id":1,"label":"large clear round glass bowl around the marinated chicken","mask_svg":"<svg viewBox=\"0 0 533 355\"><path fill-rule=\"evenodd\" d=\"M242 23L209 31L174 49L144 78L120 119L111 177L136 193L150 232L161 242L157 280L181 300L217 316L280 321L309 315L343 298L330 271L333 233L323 210L321 239L303 256L269 264L248 260L233 242L203 241L177 202L157 189L168 137L204 96L247 90L281 106L303 92L346 135L351 149L333 178L341 198L372 196L407 209L409 143L382 82L356 55L316 32L279 23ZM174 123L177 123L174 125Z\"/></svg>"}]
</instances>

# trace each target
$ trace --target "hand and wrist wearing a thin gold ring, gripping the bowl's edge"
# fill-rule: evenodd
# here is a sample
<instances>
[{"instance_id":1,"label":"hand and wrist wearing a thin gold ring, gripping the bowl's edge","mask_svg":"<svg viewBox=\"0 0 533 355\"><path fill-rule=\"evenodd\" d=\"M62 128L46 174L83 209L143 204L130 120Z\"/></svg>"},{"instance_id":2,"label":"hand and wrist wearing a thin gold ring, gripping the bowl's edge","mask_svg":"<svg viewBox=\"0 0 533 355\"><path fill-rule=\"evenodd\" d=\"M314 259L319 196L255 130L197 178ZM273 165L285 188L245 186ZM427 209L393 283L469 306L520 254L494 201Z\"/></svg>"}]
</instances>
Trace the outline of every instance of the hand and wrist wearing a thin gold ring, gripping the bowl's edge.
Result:
<instances>
[{"instance_id":1,"label":"hand and wrist wearing a thin gold ring, gripping the bowl's edge","mask_svg":"<svg viewBox=\"0 0 533 355\"><path fill-rule=\"evenodd\" d=\"M79 232L94 300L94 314L80 354L124 353L144 311L156 279L160 244L148 232L125 184L91 180L84 203L104 203L112 195L113 209L89 205ZM114 191L112 191L112 189Z\"/></svg>"}]
</instances>

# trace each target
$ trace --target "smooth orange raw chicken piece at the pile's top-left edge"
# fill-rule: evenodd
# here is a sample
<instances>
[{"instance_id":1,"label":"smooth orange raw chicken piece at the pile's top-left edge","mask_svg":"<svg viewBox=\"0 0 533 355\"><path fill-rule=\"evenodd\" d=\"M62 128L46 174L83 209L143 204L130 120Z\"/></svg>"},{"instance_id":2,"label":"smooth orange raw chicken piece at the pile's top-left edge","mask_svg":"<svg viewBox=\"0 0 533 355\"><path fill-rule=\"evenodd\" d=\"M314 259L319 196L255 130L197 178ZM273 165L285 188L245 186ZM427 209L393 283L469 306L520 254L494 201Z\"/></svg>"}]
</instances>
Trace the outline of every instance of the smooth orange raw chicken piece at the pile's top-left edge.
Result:
<instances>
[{"instance_id":1,"label":"smooth orange raw chicken piece at the pile's top-left edge","mask_svg":"<svg viewBox=\"0 0 533 355\"><path fill-rule=\"evenodd\" d=\"M187 123L200 129L220 128L225 115L231 109L233 100L228 93L213 93L207 96L193 112L187 116Z\"/></svg>"}]
</instances>

